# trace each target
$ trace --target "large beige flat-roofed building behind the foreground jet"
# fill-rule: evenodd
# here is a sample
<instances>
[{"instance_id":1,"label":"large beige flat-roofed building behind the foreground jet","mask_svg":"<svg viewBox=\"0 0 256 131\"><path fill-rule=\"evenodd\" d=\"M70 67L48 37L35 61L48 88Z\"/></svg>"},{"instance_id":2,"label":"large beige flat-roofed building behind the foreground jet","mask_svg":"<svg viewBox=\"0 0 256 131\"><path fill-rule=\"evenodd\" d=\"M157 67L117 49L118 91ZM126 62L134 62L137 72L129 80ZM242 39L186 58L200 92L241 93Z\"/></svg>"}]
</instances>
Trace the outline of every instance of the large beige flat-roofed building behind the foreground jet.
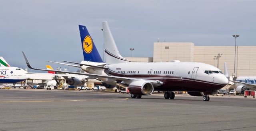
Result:
<instances>
[{"instance_id":1,"label":"large beige flat-roofed building behind the foreground jet","mask_svg":"<svg viewBox=\"0 0 256 131\"><path fill-rule=\"evenodd\" d=\"M229 75L256 76L256 46L195 46L194 43L154 42L153 58L126 57L134 62L170 62L172 60L206 63L224 72L227 63Z\"/></svg>"}]
</instances>

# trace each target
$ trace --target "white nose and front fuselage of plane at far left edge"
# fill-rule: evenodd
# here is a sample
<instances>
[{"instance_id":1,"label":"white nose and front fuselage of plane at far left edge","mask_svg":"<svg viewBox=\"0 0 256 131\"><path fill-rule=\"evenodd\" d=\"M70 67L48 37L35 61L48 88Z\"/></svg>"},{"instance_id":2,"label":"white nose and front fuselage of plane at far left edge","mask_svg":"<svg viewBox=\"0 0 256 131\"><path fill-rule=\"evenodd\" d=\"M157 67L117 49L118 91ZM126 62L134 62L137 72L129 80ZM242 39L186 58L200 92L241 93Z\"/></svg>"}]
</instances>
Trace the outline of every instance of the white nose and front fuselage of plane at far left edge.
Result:
<instances>
[{"instance_id":1,"label":"white nose and front fuselage of plane at far left edge","mask_svg":"<svg viewBox=\"0 0 256 131\"><path fill-rule=\"evenodd\" d=\"M26 71L18 67L0 67L0 83L16 83L29 78Z\"/></svg>"}]
</instances>

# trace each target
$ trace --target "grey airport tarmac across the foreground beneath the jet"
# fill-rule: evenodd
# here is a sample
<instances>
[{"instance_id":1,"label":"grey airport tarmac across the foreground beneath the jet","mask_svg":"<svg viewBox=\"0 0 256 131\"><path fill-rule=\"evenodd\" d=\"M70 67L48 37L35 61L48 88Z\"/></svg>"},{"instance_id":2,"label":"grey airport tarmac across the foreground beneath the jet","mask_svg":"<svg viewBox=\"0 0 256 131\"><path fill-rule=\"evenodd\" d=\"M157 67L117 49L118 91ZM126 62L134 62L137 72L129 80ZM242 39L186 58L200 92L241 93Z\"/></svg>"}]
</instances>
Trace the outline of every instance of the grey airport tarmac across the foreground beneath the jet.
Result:
<instances>
[{"instance_id":1,"label":"grey airport tarmac across the foreground beneath the jet","mask_svg":"<svg viewBox=\"0 0 256 131\"><path fill-rule=\"evenodd\" d=\"M0 131L255 131L256 98L0 90Z\"/></svg>"}]
</instances>

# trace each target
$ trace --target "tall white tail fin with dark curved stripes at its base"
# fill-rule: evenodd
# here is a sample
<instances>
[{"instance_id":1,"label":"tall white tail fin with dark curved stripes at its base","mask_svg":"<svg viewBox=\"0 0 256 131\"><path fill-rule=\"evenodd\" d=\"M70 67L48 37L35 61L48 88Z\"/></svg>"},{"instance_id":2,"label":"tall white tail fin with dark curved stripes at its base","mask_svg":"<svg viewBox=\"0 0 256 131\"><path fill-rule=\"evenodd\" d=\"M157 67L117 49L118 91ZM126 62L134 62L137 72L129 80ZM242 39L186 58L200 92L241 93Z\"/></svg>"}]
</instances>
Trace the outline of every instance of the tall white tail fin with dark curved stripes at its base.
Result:
<instances>
[{"instance_id":1,"label":"tall white tail fin with dark curved stripes at its base","mask_svg":"<svg viewBox=\"0 0 256 131\"><path fill-rule=\"evenodd\" d=\"M116 43L114 41L114 38L112 36L112 33L108 27L108 22L102 22L103 26L103 36L104 36L104 53L105 53L105 59L106 64L115 64L115 63L127 63L128 60L124 59L117 47Z\"/></svg>"}]
</instances>

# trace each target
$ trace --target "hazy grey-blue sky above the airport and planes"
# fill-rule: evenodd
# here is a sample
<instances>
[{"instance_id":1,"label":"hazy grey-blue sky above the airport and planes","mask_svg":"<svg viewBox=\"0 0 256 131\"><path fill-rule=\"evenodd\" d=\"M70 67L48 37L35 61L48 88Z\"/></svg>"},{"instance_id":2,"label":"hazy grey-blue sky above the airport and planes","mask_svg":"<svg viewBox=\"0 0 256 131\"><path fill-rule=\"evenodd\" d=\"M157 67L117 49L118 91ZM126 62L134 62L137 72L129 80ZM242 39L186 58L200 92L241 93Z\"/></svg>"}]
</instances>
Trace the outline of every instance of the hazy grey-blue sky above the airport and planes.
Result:
<instances>
[{"instance_id":1,"label":"hazy grey-blue sky above the airport and planes","mask_svg":"<svg viewBox=\"0 0 256 131\"><path fill-rule=\"evenodd\" d=\"M131 57L131 47L133 57L153 57L157 38L234 46L237 33L237 45L256 45L254 0L0 0L0 56L21 68L21 51L39 68L51 64L47 60L80 62L78 24L88 28L103 56L103 21L123 57Z\"/></svg>"}]
</instances>

